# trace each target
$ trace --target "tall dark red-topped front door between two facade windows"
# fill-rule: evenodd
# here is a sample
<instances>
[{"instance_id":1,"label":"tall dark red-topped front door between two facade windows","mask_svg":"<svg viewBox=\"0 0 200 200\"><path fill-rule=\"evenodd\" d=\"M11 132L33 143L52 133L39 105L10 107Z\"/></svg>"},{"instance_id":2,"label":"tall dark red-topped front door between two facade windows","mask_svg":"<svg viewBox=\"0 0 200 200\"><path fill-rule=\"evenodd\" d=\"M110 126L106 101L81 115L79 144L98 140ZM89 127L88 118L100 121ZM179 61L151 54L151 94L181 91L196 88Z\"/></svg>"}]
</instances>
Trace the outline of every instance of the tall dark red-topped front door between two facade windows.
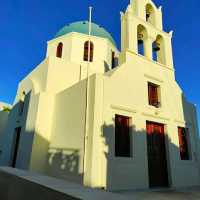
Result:
<instances>
[{"instance_id":1,"label":"tall dark red-topped front door between two facade windows","mask_svg":"<svg viewBox=\"0 0 200 200\"><path fill-rule=\"evenodd\" d=\"M167 187L168 170L164 125L147 122L149 186Z\"/></svg>"}]
</instances>

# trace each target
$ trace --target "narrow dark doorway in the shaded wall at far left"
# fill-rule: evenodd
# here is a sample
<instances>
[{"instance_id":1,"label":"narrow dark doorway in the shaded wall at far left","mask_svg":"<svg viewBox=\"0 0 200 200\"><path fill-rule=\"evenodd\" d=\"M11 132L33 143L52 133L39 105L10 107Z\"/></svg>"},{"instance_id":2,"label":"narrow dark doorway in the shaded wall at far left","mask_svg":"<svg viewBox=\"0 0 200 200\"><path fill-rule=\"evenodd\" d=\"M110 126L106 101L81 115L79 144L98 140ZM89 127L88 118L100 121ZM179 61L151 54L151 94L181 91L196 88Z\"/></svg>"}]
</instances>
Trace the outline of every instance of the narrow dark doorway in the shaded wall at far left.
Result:
<instances>
[{"instance_id":1,"label":"narrow dark doorway in the shaded wall at far left","mask_svg":"<svg viewBox=\"0 0 200 200\"><path fill-rule=\"evenodd\" d=\"M18 154L18 149L19 149L19 142L20 142L20 135L21 135L21 127L18 127L15 129L14 133L14 139L13 139L13 159L12 159L12 164L11 166L13 168L16 167L16 162L17 162L17 154Z\"/></svg>"}]
</instances>

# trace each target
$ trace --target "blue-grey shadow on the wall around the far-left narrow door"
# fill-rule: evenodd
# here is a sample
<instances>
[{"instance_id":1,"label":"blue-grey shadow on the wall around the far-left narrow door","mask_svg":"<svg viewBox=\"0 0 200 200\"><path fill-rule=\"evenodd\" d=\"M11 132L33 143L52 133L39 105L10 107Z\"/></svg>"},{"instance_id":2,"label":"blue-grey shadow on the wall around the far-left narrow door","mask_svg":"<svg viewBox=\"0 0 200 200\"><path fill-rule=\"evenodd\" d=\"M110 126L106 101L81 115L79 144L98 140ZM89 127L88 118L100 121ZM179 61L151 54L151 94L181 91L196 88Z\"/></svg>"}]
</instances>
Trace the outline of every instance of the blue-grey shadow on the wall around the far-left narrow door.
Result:
<instances>
[{"instance_id":1,"label":"blue-grey shadow on the wall around the far-left narrow door","mask_svg":"<svg viewBox=\"0 0 200 200\"><path fill-rule=\"evenodd\" d=\"M34 135L33 130L26 130L30 96L31 91L27 93L24 101L19 101L12 107L12 110L8 115L6 128L2 135L3 145L0 165L11 166L13 164L15 151L20 150L20 156L23 156L23 159L20 160L21 163L19 168L28 168ZM21 128L18 144L16 141L16 128Z\"/></svg>"}]
</instances>

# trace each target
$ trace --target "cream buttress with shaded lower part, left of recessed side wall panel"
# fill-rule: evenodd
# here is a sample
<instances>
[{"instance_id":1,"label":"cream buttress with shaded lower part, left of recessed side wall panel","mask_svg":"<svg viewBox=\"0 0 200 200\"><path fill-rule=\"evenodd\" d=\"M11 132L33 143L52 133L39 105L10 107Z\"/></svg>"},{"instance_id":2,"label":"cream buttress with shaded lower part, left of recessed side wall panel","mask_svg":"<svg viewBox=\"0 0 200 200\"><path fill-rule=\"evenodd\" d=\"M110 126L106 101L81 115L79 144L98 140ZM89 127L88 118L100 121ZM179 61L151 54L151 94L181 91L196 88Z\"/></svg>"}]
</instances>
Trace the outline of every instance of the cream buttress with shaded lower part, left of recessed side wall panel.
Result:
<instances>
[{"instance_id":1,"label":"cream buttress with shaded lower part, left of recessed side wall panel","mask_svg":"<svg viewBox=\"0 0 200 200\"><path fill-rule=\"evenodd\" d=\"M48 159L48 149L51 136L50 131L53 108L54 97L52 96L52 94L40 93L37 100L36 116L35 118L32 117L29 119L29 122L35 119L35 121L32 121L34 122L34 140L29 165L29 169L31 171L37 171L41 173L45 173L46 171L46 163Z\"/></svg>"}]
</instances>

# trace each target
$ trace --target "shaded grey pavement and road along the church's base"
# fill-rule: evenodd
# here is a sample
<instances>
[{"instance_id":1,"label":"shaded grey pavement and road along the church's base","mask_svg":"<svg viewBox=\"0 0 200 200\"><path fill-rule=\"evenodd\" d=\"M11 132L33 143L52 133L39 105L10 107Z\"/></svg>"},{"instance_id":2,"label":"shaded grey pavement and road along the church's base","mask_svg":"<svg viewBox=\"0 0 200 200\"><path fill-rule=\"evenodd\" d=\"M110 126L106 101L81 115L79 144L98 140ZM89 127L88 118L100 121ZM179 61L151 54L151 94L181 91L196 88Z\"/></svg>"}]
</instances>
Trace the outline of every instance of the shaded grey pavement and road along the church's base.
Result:
<instances>
[{"instance_id":1,"label":"shaded grey pavement and road along the church's base","mask_svg":"<svg viewBox=\"0 0 200 200\"><path fill-rule=\"evenodd\" d=\"M9 167L0 167L0 200L200 200L200 186L107 192Z\"/></svg>"}]
</instances>

